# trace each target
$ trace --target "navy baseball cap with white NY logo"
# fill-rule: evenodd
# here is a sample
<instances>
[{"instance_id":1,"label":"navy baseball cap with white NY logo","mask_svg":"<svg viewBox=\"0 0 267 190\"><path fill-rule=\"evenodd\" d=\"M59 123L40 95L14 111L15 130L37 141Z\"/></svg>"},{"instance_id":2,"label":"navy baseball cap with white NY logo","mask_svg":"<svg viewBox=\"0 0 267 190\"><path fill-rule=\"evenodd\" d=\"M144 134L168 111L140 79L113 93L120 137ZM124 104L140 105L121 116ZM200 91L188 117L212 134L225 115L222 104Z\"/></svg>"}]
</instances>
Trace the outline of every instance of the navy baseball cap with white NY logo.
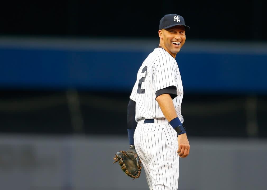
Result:
<instances>
[{"instance_id":1,"label":"navy baseball cap with white NY logo","mask_svg":"<svg viewBox=\"0 0 267 190\"><path fill-rule=\"evenodd\" d=\"M159 30L167 29L173 26L183 26L184 29L189 30L190 27L184 24L184 18L177 14L166 14L159 21Z\"/></svg>"}]
</instances>

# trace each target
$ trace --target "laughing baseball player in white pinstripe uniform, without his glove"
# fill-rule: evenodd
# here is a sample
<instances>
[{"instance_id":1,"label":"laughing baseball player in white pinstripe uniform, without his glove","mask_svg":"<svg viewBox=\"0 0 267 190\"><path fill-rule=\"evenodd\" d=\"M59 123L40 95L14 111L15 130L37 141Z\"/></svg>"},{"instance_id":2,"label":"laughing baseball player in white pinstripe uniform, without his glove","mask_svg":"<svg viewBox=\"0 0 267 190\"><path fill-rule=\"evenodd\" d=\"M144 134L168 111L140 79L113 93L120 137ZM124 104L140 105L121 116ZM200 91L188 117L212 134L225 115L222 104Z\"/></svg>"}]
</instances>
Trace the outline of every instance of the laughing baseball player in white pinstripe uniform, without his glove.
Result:
<instances>
[{"instance_id":1,"label":"laughing baseball player in white pinstripe uniform, without his glove","mask_svg":"<svg viewBox=\"0 0 267 190\"><path fill-rule=\"evenodd\" d=\"M183 17L168 14L159 22L159 46L137 73L128 104L130 149L142 161L150 189L177 189L179 157L189 155L183 126L183 85L175 60L190 29Z\"/></svg>"}]
</instances>

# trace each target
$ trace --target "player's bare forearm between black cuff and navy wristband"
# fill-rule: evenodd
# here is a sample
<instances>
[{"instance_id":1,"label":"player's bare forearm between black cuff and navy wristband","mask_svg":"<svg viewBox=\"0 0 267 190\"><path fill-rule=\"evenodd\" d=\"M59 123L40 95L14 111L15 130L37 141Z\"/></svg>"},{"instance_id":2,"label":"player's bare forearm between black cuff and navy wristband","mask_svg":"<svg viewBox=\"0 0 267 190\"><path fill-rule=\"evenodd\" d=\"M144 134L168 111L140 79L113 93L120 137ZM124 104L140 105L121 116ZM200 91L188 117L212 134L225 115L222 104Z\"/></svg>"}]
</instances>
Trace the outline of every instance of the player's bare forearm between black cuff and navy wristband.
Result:
<instances>
[{"instance_id":1,"label":"player's bare forearm between black cuff and navy wristband","mask_svg":"<svg viewBox=\"0 0 267 190\"><path fill-rule=\"evenodd\" d=\"M159 107L164 117L170 122L172 119L177 118L177 114L169 94L162 94L156 98Z\"/></svg>"}]
</instances>

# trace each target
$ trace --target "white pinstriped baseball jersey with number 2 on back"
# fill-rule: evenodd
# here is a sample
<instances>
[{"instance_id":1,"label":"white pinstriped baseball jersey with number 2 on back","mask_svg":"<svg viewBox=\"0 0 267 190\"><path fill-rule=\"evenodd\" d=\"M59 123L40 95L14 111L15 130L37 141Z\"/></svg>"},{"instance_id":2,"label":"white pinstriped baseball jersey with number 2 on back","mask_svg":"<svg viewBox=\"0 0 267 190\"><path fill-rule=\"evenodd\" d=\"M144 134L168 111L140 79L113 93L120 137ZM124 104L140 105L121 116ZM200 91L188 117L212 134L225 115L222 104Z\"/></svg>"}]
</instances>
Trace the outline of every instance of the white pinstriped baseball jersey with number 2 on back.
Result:
<instances>
[{"instance_id":1,"label":"white pinstriped baseball jersey with number 2 on back","mask_svg":"<svg viewBox=\"0 0 267 190\"><path fill-rule=\"evenodd\" d=\"M164 118L156 101L156 92L175 86L177 97L173 99L178 118L183 123L181 104L183 85L176 60L164 49L155 48L144 60L137 73L130 99L136 102L135 120Z\"/></svg>"}]
</instances>

